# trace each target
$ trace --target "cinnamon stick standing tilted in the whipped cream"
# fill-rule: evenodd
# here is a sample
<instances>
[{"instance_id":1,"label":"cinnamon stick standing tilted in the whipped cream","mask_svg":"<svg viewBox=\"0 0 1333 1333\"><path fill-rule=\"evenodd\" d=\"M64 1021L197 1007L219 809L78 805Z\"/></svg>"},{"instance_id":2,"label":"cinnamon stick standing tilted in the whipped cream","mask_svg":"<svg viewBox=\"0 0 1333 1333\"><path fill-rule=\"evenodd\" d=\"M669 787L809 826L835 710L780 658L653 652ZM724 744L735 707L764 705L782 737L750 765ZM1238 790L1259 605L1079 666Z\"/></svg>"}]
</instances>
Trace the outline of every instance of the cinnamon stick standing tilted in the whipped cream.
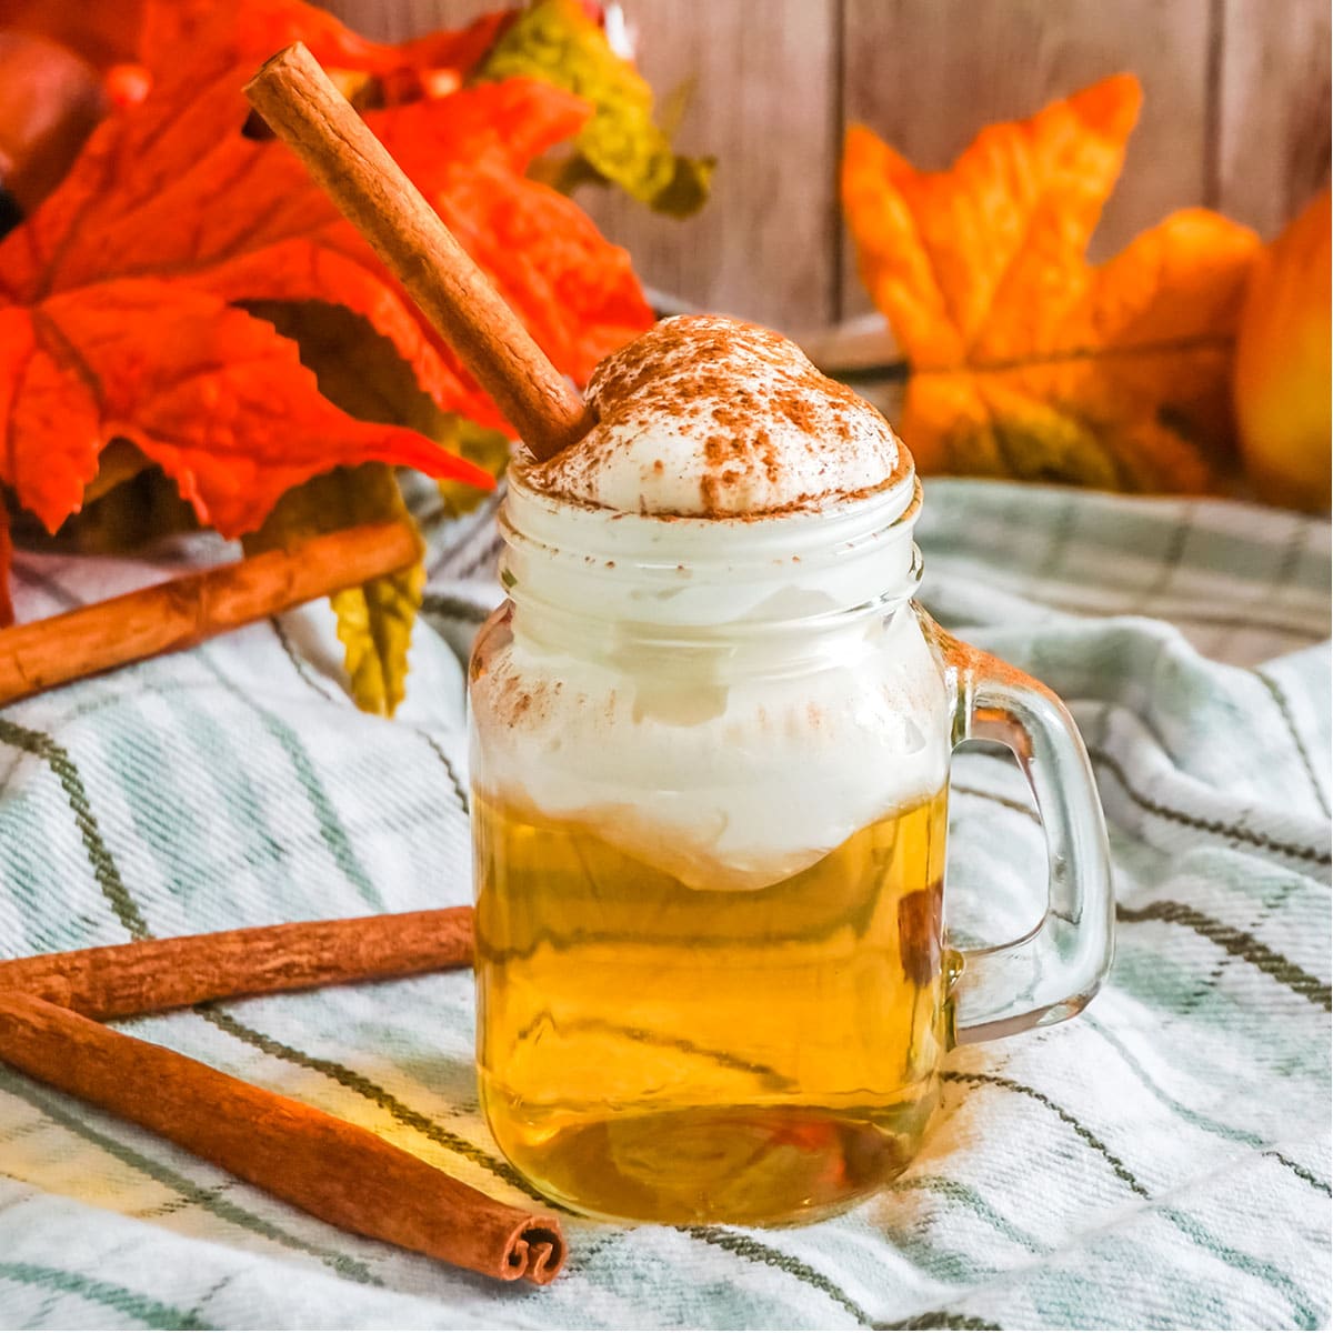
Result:
<instances>
[{"instance_id":1,"label":"cinnamon stick standing tilted in the whipped cream","mask_svg":"<svg viewBox=\"0 0 1333 1333\"><path fill-rule=\"evenodd\" d=\"M587 435L579 395L301 43L268 60L245 96L539 459Z\"/></svg>"}]
</instances>

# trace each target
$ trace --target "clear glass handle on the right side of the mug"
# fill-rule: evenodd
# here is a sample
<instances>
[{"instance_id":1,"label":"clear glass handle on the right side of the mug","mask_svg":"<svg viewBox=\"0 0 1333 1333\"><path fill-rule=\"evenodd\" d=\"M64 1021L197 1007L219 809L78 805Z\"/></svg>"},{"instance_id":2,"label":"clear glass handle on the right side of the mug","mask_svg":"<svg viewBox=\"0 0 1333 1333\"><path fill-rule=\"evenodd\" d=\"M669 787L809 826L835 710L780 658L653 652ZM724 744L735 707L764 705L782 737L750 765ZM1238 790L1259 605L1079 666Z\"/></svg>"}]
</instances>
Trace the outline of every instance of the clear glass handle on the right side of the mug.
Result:
<instances>
[{"instance_id":1,"label":"clear glass handle on the right side of the mug","mask_svg":"<svg viewBox=\"0 0 1333 1333\"><path fill-rule=\"evenodd\" d=\"M1078 1013L1110 969L1116 902L1097 784L1069 710L1040 681L932 628L956 677L953 744L998 741L1013 750L1037 801L1050 865L1046 910L1033 930L960 950L961 1045Z\"/></svg>"}]
</instances>

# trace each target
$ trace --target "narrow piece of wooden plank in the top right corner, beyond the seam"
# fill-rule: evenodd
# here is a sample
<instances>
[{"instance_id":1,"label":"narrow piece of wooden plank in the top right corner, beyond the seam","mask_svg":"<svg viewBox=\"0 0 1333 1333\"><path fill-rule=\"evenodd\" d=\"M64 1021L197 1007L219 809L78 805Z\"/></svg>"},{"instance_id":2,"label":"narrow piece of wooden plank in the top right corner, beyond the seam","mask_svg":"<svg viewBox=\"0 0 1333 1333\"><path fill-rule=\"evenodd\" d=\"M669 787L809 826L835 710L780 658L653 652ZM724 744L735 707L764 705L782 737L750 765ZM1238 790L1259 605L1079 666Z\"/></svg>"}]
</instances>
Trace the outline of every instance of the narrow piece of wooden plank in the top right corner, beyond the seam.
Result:
<instances>
[{"instance_id":1,"label":"narrow piece of wooden plank in the top right corner, beyond the seam","mask_svg":"<svg viewBox=\"0 0 1333 1333\"><path fill-rule=\"evenodd\" d=\"M1220 0L1217 207L1270 237L1329 179L1328 0Z\"/></svg>"}]
</instances>

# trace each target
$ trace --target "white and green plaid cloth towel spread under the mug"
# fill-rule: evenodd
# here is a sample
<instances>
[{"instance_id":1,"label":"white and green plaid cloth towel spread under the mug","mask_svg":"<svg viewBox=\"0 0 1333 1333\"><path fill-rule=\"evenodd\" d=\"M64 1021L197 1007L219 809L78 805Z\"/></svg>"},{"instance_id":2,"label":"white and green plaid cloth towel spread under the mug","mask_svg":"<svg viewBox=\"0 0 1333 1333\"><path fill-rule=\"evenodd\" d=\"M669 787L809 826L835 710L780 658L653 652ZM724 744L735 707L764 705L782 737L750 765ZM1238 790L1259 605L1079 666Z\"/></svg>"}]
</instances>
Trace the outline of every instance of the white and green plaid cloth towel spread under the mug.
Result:
<instances>
[{"instance_id":1,"label":"white and green plaid cloth towel spread under the mug","mask_svg":"<svg viewBox=\"0 0 1333 1333\"><path fill-rule=\"evenodd\" d=\"M460 655L493 505L439 525L408 704L323 607L0 714L0 953L465 902ZM1329 1318L1329 536L1233 503L932 481L924 600L1046 680L1110 824L1118 954L1074 1022L956 1052L920 1160L793 1230L571 1221L551 1288L343 1234L0 1066L11 1328L1320 1328ZM20 556L23 619L191 560ZM950 916L1044 876L960 756ZM124 1022L521 1202L465 973Z\"/></svg>"}]
</instances>

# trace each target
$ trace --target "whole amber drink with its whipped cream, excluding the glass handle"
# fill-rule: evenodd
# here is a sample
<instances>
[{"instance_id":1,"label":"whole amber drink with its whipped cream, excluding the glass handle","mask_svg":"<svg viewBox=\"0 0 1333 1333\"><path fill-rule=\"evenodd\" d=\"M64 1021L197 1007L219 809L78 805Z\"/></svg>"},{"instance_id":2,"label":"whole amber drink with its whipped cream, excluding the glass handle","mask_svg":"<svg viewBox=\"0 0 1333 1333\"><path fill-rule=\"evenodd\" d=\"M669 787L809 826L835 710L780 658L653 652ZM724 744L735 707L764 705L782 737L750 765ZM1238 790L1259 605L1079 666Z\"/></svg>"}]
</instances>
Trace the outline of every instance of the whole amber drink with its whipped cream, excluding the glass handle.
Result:
<instances>
[{"instance_id":1,"label":"whole amber drink with its whipped cream, excluding the glass handle","mask_svg":"<svg viewBox=\"0 0 1333 1333\"><path fill-rule=\"evenodd\" d=\"M949 700L910 464L784 339L669 320L512 469L471 672L479 1069L544 1193L820 1216L936 1100Z\"/></svg>"}]
</instances>

